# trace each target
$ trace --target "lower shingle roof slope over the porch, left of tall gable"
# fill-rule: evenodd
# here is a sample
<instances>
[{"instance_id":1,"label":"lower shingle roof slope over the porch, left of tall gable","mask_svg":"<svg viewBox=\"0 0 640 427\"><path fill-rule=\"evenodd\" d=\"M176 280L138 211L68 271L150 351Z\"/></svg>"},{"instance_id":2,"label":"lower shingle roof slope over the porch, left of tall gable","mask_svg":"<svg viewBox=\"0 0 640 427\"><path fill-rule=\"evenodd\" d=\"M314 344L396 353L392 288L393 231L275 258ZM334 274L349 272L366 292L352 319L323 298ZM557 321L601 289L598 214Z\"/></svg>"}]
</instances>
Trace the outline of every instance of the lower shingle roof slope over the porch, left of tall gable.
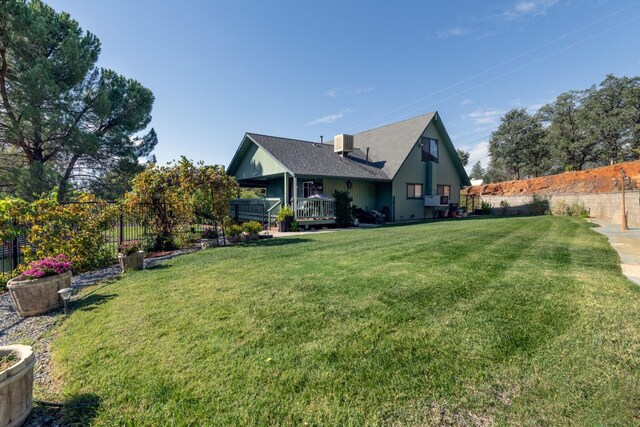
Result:
<instances>
[{"instance_id":1,"label":"lower shingle roof slope over the porch, left of tall gable","mask_svg":"<svg viewBox=\"0 0 640 427\"><path fill-rule=\"evenodd\" d=\"M295 175L335 176L371 180L390 178L377 165L367 164L365 155L356 150L349 157L333 152L333 145L298 139L248 133L269 154Z\"/></svg>"}]
</instances>

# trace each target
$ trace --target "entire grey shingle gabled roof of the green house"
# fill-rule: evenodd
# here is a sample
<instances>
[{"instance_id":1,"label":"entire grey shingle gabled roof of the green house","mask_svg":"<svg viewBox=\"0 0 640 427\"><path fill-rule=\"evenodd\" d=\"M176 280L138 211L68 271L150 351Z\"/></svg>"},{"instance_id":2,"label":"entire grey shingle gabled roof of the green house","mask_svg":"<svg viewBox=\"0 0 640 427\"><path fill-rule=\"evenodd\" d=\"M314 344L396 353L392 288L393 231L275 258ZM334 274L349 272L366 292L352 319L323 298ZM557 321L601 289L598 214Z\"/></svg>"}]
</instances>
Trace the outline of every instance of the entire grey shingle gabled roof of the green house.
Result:
<instances>
[{"instance_id":1,"label":"entire grey shingle gabled roof of the green house","mask_svg":"<svg viewBox=\"0 0 640 427\"><path fill-rule=\"evenodd\" d=\"M266 150L286 170L294 175L344 177L390 181L407 159L411 149L433 122L441 135L463 185L469 185L464 166L460 162L446 129L437 112L381 126L354 135L354 151L348 157L333 152L333 141L324 144L298 139L247 133L238 148L228 173L233 175L250 142ZM366 149L369 159L366 161Z\"/></svg>"}]
</instances>

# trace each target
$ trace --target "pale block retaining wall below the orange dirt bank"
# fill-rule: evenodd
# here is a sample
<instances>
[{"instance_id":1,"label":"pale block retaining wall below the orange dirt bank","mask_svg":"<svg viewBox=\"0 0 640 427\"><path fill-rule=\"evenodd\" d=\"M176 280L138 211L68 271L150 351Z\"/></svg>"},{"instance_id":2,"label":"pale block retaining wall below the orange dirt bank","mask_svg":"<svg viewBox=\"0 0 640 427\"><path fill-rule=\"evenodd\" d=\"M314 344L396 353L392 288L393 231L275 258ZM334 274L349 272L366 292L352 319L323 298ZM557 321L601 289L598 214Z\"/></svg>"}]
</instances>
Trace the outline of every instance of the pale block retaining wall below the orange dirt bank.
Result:
<instances>
[{"instance_id":1,"label":"pale block retaining wall below the orange dirt bank","mask_svg":"<svg viewBox=\"0 0 640 427\"><path fill-rule=\"evenodd\" d=\"M620 192L615 193L594 193L594 194L555 194L539 196L549 202L549 207L553 212L562 203L571 205L578 201L581 202L585 209L593 218L602 218L610 220L616 224L620 224L622 213L622 196ZM520 196L501 196L501 195L482 195L483 202L489 202L493 206L492 213L494 215L528 215L529 204L533 195ZM509 207L501 208L500 202L503 200L509 203ZM625 193L625 203L627 209L627 221L630 227L640 227L640 191L627 191ZM476 200L476 207L479 203Z\"/></svg>"}]
</instances>

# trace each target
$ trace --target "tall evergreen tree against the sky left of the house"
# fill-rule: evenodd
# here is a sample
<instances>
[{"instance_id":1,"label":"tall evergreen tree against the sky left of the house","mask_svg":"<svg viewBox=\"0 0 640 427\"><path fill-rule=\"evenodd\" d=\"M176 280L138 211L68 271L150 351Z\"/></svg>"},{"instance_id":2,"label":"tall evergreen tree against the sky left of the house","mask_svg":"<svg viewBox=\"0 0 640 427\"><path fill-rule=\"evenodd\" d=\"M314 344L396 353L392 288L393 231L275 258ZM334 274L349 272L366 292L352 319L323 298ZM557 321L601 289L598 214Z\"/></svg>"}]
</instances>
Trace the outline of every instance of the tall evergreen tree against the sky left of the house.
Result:
<instances>
[{"instance_id":1,"label":"tall evergreen tree against the sky left of the house","mask_svg":"<svg viewBox=\"0 0 640 427\"><path fill-rule=\"evenodd\" d=\"M121 168L137 170L155 132L153 94L95 64L100 42L40 0L0 1L0 163L7 192L29 196L55 182L89 185ZM7 162L10 153L15 157ZM0 169L0 173L2 169ZM42 178L42 179L40 179Z\"/></svg>"}]
</instances>

